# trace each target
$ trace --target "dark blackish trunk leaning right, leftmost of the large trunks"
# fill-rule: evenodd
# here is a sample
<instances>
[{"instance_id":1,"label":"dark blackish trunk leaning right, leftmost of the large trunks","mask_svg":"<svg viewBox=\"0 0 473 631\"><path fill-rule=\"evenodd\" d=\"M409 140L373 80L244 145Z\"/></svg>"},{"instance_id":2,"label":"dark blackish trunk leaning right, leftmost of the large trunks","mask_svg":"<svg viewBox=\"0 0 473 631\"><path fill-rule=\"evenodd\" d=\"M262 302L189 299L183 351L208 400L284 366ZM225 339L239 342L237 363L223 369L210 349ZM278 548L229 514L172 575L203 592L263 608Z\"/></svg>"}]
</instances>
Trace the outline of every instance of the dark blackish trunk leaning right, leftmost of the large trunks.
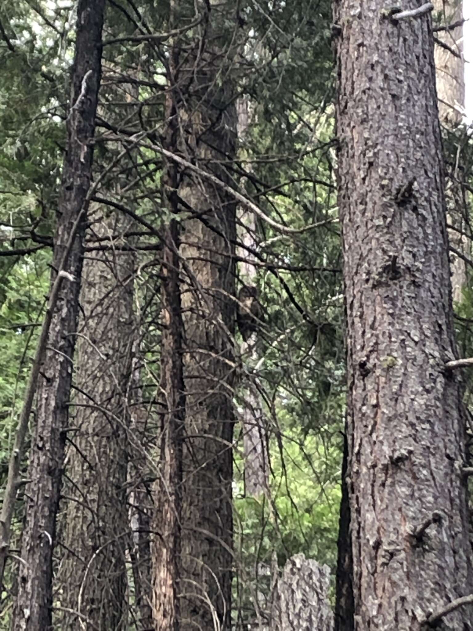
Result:
<instances>
[{"instance_id":1,"label":"dark blackish trunk leaning right, leftmost of the large trunks","mask_svg":"<svg viewBox=\"0 0 473 631\"><path fill-rule=\"evenodd\" d=\"M80 0L72 99L67 119L67 152L62 172L53 268L61 261L74 222L85 211L90 187L95 113L102 57L105 0ZM69 257L75 282L62 285L50 327L48 351L38 389L37 423L26 488L26 521L19 563L15 631L37 631L51 624L52 550L61 489L64 443L76 341L84 221ZM54 276L54 273L53 273Z\"/></svg>"}]
</instances>

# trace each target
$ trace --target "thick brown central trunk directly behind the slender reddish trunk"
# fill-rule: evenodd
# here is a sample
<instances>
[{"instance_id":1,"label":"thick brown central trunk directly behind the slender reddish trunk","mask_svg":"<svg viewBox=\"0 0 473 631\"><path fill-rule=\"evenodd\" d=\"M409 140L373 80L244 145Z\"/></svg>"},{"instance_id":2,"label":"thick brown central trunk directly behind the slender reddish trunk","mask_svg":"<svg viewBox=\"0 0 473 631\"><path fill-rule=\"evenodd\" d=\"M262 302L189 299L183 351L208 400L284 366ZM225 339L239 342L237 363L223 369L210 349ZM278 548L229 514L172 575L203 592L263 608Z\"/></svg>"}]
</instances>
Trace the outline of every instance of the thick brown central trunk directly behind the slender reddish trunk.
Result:
<instances>
[{"instance_id":1,"label":"thick brown central trunk directly behind the slender reddish trunk","mask_svg":"<svg viewBox=\"0 0 473 631\"><path fill-rule=\"evenodd\" d=\"M178 10L184 12L179 4ZM231 177L224 163L235 156L236 114L225 64L224 11L220 4L202 6L202 23L189 40L175 40L170 55L168 148L225 184ZM189 7L189 17L194 9ZM219 22L220 27L216 21ZM178 24L177 24L178 25ZM216 35L217 33L217 35ZM225 76L225 80L216 77ZM223 161L223 162L222 162ZM230 194L181 167L177 189L166 194L182 219L180 292L182 302L185 418L182 452L182 524L177 613L180 631L230 629L233 437L233 329L235 321L235 203ZM162 457L170 457L166 453ZM169 466L162 463L161 466ZM173 482L179 484L179 480ZM175 489L172 490L175 493ZM161 502L156 497L156 504ZM165 500L173 502L172 497ZM162 523L160 524L159 521ZM162 511L160 535L172 529ZM168 552L155 555L155 615L170 594L156 587L168 569ZM175 596L172 596L175 602ZM173 629L173 616L161 629Z\"/></svg>"}]
</instances>

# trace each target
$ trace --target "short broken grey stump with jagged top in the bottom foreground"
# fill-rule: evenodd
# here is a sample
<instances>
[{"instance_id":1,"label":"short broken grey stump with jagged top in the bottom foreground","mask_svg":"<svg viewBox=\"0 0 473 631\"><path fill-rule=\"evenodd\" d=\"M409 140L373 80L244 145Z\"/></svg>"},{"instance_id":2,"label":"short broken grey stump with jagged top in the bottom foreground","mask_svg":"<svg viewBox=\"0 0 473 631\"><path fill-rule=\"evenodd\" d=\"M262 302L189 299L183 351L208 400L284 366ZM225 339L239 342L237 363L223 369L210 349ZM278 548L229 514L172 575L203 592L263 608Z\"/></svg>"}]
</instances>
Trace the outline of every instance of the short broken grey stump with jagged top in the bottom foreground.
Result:
<instances>
[{"instance_id":1,"label":"short broken grey stump with jagged top in the bottom foreground","mask_svg":"<svg viewBox=\"0 0 473 631\"><path fill-rule=\"evenodd\" d=\"M271 631L332 631L330 569L303 554L289 558L273 596Z\"/></svg>"}]
</instances>

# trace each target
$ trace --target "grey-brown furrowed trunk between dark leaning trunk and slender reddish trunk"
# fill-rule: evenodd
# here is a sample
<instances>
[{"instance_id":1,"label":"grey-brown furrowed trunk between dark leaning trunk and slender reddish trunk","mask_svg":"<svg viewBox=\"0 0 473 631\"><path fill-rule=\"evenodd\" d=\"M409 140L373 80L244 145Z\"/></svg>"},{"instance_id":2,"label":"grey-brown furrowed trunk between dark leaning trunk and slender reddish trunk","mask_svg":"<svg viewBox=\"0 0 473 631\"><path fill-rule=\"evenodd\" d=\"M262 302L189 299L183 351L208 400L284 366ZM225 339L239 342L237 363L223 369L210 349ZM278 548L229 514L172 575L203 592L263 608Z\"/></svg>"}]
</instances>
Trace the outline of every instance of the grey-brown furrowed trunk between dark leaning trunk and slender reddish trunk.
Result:
<instances>
[{"instance_id":1,"label":"grey-brown furrowed trunk between dark leaning trunk and slender reddish trunk","mask_svg":"<svg viewBox=\"0 0 473 631\"><path fill-rule=\"evenodd\" d=\"M97 209L98 211L98 209ZM126 232L122 218L94 223L107 237ZM127 628L126 504L134 253L113 249L85 257L77 344L76 416L67 454L61 606L102 631ZM62 612L61 629L84 618Z\"/></svg>"}]
</instances>

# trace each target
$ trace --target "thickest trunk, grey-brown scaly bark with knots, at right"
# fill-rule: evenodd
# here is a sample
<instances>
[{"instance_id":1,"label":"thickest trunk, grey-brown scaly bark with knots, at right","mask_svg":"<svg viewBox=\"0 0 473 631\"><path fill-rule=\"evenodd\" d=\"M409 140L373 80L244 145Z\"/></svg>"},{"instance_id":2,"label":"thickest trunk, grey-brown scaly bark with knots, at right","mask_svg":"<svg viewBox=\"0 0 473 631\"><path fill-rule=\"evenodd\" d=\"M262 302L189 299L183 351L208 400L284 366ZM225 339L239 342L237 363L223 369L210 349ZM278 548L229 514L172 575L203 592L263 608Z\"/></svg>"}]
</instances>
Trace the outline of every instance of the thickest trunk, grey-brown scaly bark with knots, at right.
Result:
<instances>
[{"instance_id":1,"label":"thickest trunk, grey-brown scaly bark with knots, at right","mask_svg":"<svg viewBox=\"0 0 473 631\"><path fill-rule=\"evenodd\" d=\"M419 631L472 592L431 16L334 7L354 629Z\"/></svg>"}]
</instances>

